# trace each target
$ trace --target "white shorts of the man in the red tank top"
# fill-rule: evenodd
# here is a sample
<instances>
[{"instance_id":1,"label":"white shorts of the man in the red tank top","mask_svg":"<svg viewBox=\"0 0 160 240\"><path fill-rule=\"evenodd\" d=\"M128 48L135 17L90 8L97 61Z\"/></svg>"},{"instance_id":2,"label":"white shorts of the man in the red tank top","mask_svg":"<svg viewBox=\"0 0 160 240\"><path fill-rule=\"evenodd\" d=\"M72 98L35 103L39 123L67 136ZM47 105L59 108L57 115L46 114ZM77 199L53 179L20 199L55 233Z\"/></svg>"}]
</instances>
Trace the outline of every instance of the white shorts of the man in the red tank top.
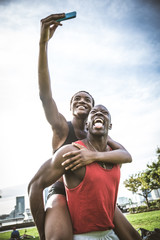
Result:
<instances>
[{"instance_id":1,"label":"white shorts of the man in the red tank top","mask_svg":"<svg viewBox=\"0 0 160 240\"><path fill-rule=\"evenodd\" d=\"M113 230L74 234L73 240L119 240Z\"/></svg>"}]
</instances>

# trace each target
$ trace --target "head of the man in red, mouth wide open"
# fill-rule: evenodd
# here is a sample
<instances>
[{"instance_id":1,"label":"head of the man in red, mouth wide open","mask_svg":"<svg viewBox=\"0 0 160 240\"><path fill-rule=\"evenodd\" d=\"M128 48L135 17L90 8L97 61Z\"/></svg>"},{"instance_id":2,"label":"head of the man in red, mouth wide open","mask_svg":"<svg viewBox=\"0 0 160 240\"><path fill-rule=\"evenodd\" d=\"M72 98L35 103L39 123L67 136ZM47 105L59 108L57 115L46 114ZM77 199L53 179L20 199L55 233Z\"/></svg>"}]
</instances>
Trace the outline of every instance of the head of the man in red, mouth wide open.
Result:
<instances>
[{"instance_id":1,"label":"head of the man in red, mouth wide open","mask_svg":"<svg viewBox=\"0 0 160 240\"><path fill-rule=\"evenodd\" d=\"M108 129L112 128L111 115L106 107L97 105L89 113L87 127L94 135L108 134Z\"/></svg>"}]
</instances>

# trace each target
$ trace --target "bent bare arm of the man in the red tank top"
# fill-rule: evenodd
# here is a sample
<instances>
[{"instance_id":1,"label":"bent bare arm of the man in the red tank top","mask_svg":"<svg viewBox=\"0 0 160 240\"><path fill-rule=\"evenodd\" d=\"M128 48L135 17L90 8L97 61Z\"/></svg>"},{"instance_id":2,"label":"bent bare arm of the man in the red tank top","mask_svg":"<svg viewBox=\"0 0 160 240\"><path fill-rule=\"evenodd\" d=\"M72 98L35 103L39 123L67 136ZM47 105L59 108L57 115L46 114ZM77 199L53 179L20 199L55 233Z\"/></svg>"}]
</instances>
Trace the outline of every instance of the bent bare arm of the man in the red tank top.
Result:
<instances>
[{"instance_id":1,"label":"bent bare arm of the man in the red tank top","mask_svg":"<svg viewBox=\"0 0 160 240\"><path fill-rule=\"evenodd\" d=\"M57 181L65 172L64 167L61 165L63 153L63 151L61 153L61 150L59 150L54 154L52 159L46 161L32 178L28 186L30 208L41 240L45 240L43 190Z\"/></svg>"}]
</instances>

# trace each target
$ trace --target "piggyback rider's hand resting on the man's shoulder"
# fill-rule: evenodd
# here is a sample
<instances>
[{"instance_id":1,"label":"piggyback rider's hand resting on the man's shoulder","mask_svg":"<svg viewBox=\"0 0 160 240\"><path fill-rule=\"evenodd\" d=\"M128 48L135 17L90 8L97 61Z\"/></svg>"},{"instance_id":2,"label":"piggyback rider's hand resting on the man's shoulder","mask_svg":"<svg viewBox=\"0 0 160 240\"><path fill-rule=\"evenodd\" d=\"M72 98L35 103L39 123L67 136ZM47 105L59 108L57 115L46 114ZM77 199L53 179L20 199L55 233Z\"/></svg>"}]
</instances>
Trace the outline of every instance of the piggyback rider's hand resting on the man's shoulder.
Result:
<instances>
[{"instance_id":1,"label":"piggyback rider's hand resting on the man's shoulder","mask_svg":"<svg viewBox=\"0 0 160 240\"><path fill-rule=\"evenodd\" d=\"M93 157L95 156L96 152L92 152L78 143L73 143L73 145L78 147L79 150L71 151L63 155L65 161L62 163L62 165L65 167L65 170L70 169L74 171L80 167L94 162Z\"/></svg>"}]
</instances>

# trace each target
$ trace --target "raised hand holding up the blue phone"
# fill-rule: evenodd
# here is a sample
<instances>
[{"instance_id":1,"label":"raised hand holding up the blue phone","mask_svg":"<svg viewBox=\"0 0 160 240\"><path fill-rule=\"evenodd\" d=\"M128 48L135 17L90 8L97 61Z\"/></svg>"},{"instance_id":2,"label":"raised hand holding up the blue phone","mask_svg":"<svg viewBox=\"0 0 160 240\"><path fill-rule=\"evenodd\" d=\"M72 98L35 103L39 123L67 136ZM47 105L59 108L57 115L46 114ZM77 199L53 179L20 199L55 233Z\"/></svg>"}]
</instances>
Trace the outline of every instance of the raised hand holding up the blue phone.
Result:
<instances>
[{"instance_id":1,"label":"raised hand holding up the blue phone","mask_svg":"<svg viewBox=\"0 0 160 240\"><path fill-rule=\"evenodd\" d=\"M40 43L48 42L53 36L56 28L62 26L61 23L57 22L57 19L65 17L65 13L52 14L46 18L41 19L41 36Z\"/></svg>"}]
</instances>

